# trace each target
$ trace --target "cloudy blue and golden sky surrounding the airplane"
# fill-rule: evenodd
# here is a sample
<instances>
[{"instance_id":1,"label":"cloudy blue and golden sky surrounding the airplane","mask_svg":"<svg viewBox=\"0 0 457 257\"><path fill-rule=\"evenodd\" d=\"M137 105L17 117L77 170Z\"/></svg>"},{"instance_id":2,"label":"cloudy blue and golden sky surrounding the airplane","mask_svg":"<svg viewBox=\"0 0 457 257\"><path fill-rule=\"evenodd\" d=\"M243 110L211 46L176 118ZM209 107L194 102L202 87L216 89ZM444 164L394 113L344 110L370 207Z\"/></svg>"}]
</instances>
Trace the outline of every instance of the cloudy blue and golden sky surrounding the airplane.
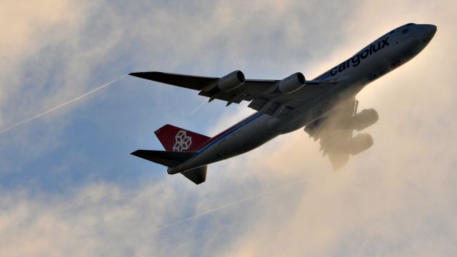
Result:
<instances>
[{"instance_id":1,"label":"cloudy blue and golden sky surrounding the airplane","mask_svg":"<svg viewBox=\"0 0 457 257\"><path fill-rule=\"evenodd\" d=\"M195 186L129 155L253 111L125 77L0 133L0 256L455 256L454 1L0 2L0 130L132 71L308 79L397 26L436 24L358 95L374 145L333 172L299 130Z\"/></svg>"}]
</instances>

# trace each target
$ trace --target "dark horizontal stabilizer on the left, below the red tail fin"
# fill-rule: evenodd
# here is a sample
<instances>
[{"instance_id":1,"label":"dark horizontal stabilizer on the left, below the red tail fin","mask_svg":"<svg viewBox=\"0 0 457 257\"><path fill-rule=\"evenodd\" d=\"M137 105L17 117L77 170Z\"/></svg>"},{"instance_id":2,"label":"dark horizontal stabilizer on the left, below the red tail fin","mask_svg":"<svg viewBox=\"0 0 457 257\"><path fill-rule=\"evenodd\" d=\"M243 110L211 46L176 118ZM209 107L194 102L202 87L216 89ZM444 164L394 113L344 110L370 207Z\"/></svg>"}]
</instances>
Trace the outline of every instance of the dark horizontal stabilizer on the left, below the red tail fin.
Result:
<instances>
[{"instance_id":1,"label":"dark horizontal stabilizer on the left, below the red tail fin","mask_svg":"<svg viewBox=\"0 0 457 257\"><path fill-rule=\"evenodd\" d=\"M178 166L189 160L196 152L136 150L131 155L144 158L148 161L159 163L167 167Z\"/></svg>"}]
</instances>

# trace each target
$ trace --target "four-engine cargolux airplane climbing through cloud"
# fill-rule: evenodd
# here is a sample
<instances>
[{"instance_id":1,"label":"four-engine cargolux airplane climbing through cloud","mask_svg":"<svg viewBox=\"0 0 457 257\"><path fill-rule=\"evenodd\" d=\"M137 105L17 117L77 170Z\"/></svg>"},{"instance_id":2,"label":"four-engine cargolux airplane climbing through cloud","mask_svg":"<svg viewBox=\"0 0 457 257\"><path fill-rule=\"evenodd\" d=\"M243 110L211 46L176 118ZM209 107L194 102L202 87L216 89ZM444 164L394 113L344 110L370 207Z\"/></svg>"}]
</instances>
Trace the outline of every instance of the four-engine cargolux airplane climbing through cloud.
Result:
<instances>
[{"instance_id":1,"label":"four-engine cargolux airplane climbing through cloud","mask_svg":"<svg viewBox=\"0 0 457 257\"><path fill-rule=\"evenodd\" d=\"M276 136L304 127L320 139L323 156L335 170L373 145L368 133L353 136L378 121L374 109L357 112L356 95L389 71L421 52L436 34L431 24L406 24L368 44L341 64L307 81L301 72L281 80L246 79L233 71L219 77L189 76L163 72L129 75L199 91L209 101L230 104L248 101L256 113L216 136L209 137L169 124L155 131L166 151L137 150L131 153L181 173L196 184L206 181L208 164L251 151Z\"/></svg>"}]
</instances>

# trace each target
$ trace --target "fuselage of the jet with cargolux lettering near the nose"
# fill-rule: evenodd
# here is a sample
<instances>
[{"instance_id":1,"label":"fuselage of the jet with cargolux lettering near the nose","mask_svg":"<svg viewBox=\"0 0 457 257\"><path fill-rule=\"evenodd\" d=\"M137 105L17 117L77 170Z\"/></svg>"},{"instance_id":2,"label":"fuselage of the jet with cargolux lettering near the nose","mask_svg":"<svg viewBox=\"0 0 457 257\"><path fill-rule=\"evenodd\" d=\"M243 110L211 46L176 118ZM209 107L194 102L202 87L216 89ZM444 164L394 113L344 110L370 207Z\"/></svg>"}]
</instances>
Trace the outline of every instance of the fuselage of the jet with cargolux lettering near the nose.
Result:
<instances>
[{"instance_id":1,"label":"fuselage of the jet with cargolux lettering near the nose","mask_svg":"<svg viewBox=\"0 0 457 257\"><path fill-rule=\"evenodd\" d=\"M436 26L433 25L406 24L398 27L314 79L337 81L337 84L294 109L290 119L256 112L211 138L194 157L169 168L168 172L179 173L237 156L283 133L301 129L328 114L341 101L358 94L366 84L411 60L428 44L435 31Z\"/></svg>"}]
</instances>

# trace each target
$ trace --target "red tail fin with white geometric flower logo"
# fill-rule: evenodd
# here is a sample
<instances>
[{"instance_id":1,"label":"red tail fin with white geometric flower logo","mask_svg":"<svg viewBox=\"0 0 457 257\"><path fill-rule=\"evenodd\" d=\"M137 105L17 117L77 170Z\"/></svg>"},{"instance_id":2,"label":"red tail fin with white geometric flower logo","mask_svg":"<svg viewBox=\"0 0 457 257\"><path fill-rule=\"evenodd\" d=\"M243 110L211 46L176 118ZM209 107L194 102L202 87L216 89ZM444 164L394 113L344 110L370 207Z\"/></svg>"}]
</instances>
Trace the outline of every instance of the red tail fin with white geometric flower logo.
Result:
<instances>
[{"instance_id":1,"label":"red tail fin with white geometric flower logo","mask_svg":"<svg viewBox=\"0 0 457 257\"><path fill-rule=\"evenodd\" d=\"M208 136L166 124L154 132L166 151L198 151Z\"/></svg>"}]
</instances>

